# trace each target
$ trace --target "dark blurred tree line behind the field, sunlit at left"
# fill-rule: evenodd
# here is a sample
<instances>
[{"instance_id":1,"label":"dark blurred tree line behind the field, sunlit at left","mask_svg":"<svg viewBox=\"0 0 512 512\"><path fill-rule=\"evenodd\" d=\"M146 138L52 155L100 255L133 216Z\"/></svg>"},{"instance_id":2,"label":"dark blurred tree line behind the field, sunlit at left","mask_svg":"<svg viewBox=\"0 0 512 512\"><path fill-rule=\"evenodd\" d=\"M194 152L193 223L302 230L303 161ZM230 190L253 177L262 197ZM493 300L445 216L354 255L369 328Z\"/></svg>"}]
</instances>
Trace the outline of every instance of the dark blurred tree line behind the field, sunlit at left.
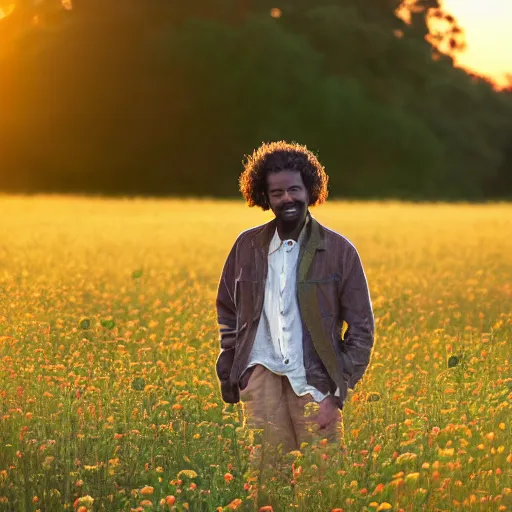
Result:
<instances>
[{"instance_id":1,"label":"dark blurred tree line behind the field, sunlit at left","mask_svg":"<svg viewBox=\"0 0 512 512\"><path fill-rule=\"evenodd\" d=\"M512 89L454 67L463 32L438 0L400 5L19 0L0 20L0 189L236 196L244 155L285 139L332 197L511 197Z\"/></svg>"}]
</instances>

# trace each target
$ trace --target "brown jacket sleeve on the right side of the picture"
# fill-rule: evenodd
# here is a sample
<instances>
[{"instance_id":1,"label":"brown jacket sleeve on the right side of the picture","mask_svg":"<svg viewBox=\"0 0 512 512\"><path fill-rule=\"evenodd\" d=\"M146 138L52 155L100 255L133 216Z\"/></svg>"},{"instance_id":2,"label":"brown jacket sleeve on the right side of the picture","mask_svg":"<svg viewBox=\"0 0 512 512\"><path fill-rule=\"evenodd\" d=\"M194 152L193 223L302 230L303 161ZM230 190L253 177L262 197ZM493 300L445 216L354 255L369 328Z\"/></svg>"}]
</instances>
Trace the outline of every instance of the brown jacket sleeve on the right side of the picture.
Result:
<instances>
[{"instance_id":1,"label":"brown jacket sleeve on the right side of the picture","mask_svg":"<svg viewBox=\"0 0 512 512\"><path fill-rule=\"evenodd\" d=\"M339 302L341 317L348 324L342 350L348 386L354 389L370 362L375 322L368 282L355 247L349 245L343 257L343 278Z\"/></svg>"}]
</instances>

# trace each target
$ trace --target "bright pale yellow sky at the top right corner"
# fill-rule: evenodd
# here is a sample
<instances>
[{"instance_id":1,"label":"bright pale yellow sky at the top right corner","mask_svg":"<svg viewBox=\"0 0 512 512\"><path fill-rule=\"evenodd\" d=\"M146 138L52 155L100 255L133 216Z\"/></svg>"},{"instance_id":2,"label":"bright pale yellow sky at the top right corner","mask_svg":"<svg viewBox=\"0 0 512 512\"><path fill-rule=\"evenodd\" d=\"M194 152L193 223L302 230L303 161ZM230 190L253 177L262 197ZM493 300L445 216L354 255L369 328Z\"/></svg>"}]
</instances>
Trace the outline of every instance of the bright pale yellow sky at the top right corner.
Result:
<instances>
[{"instance_id":1,"label":"bright pale yellow sky at the top right corner","mask_svg":"<svg viewBox=\"0 0 512 512\"><path fill-rule=\"evenodd\" d=\"M466 33L457 64L506 85L512 75L512 0L443 0Z\"/></svg>"}]
</instances>

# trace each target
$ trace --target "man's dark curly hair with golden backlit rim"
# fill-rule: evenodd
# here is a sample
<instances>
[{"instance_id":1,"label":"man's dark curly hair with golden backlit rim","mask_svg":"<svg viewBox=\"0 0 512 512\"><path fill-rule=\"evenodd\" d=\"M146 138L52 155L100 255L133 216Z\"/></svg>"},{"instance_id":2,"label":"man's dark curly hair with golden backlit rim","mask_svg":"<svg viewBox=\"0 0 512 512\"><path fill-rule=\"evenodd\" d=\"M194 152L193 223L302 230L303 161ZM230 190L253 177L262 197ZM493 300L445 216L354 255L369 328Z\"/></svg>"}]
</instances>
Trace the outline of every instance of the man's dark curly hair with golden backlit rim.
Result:
<instances>
[{"instance_id":1,"label":"man's dark curly hair with golden backlit rim","mask_svg":"<svg viewBox=\"0 0 512 512\"><path fill-rule=\"evenodd\" d=\"M285 141L262 144L247 157L240 175L240 191L249 206L268 210L267 174L279 171L299 171L309 196L309 206L327 199L329 176L317 157L306 147Z\"/></svg>"}]
</instances>

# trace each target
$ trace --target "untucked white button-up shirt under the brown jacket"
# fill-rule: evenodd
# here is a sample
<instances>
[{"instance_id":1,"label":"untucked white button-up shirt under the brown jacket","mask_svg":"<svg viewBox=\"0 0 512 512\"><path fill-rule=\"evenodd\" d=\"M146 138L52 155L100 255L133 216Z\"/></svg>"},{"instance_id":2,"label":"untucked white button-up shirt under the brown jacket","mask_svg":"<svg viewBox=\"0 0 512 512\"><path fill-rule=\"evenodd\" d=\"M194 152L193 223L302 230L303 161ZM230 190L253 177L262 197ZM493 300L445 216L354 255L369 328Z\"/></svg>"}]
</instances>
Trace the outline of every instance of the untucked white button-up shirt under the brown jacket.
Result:
<instances>
[{"instance_id":1,"label":"untucked white button-up shirt under the brown jacket","mask_svg":"<svg viewBox=\"0 0 512 512\"><path fill-rule=\"evenodd\" d=\"M276 232L268 251L265 298L248 367L261 364L277 375L284 375L297 396L311 393L313 400L324 395L306 381L302 348L302 321L297 300L297 261L299 241L281 240Z\"/></svg>"}]
</instances>

